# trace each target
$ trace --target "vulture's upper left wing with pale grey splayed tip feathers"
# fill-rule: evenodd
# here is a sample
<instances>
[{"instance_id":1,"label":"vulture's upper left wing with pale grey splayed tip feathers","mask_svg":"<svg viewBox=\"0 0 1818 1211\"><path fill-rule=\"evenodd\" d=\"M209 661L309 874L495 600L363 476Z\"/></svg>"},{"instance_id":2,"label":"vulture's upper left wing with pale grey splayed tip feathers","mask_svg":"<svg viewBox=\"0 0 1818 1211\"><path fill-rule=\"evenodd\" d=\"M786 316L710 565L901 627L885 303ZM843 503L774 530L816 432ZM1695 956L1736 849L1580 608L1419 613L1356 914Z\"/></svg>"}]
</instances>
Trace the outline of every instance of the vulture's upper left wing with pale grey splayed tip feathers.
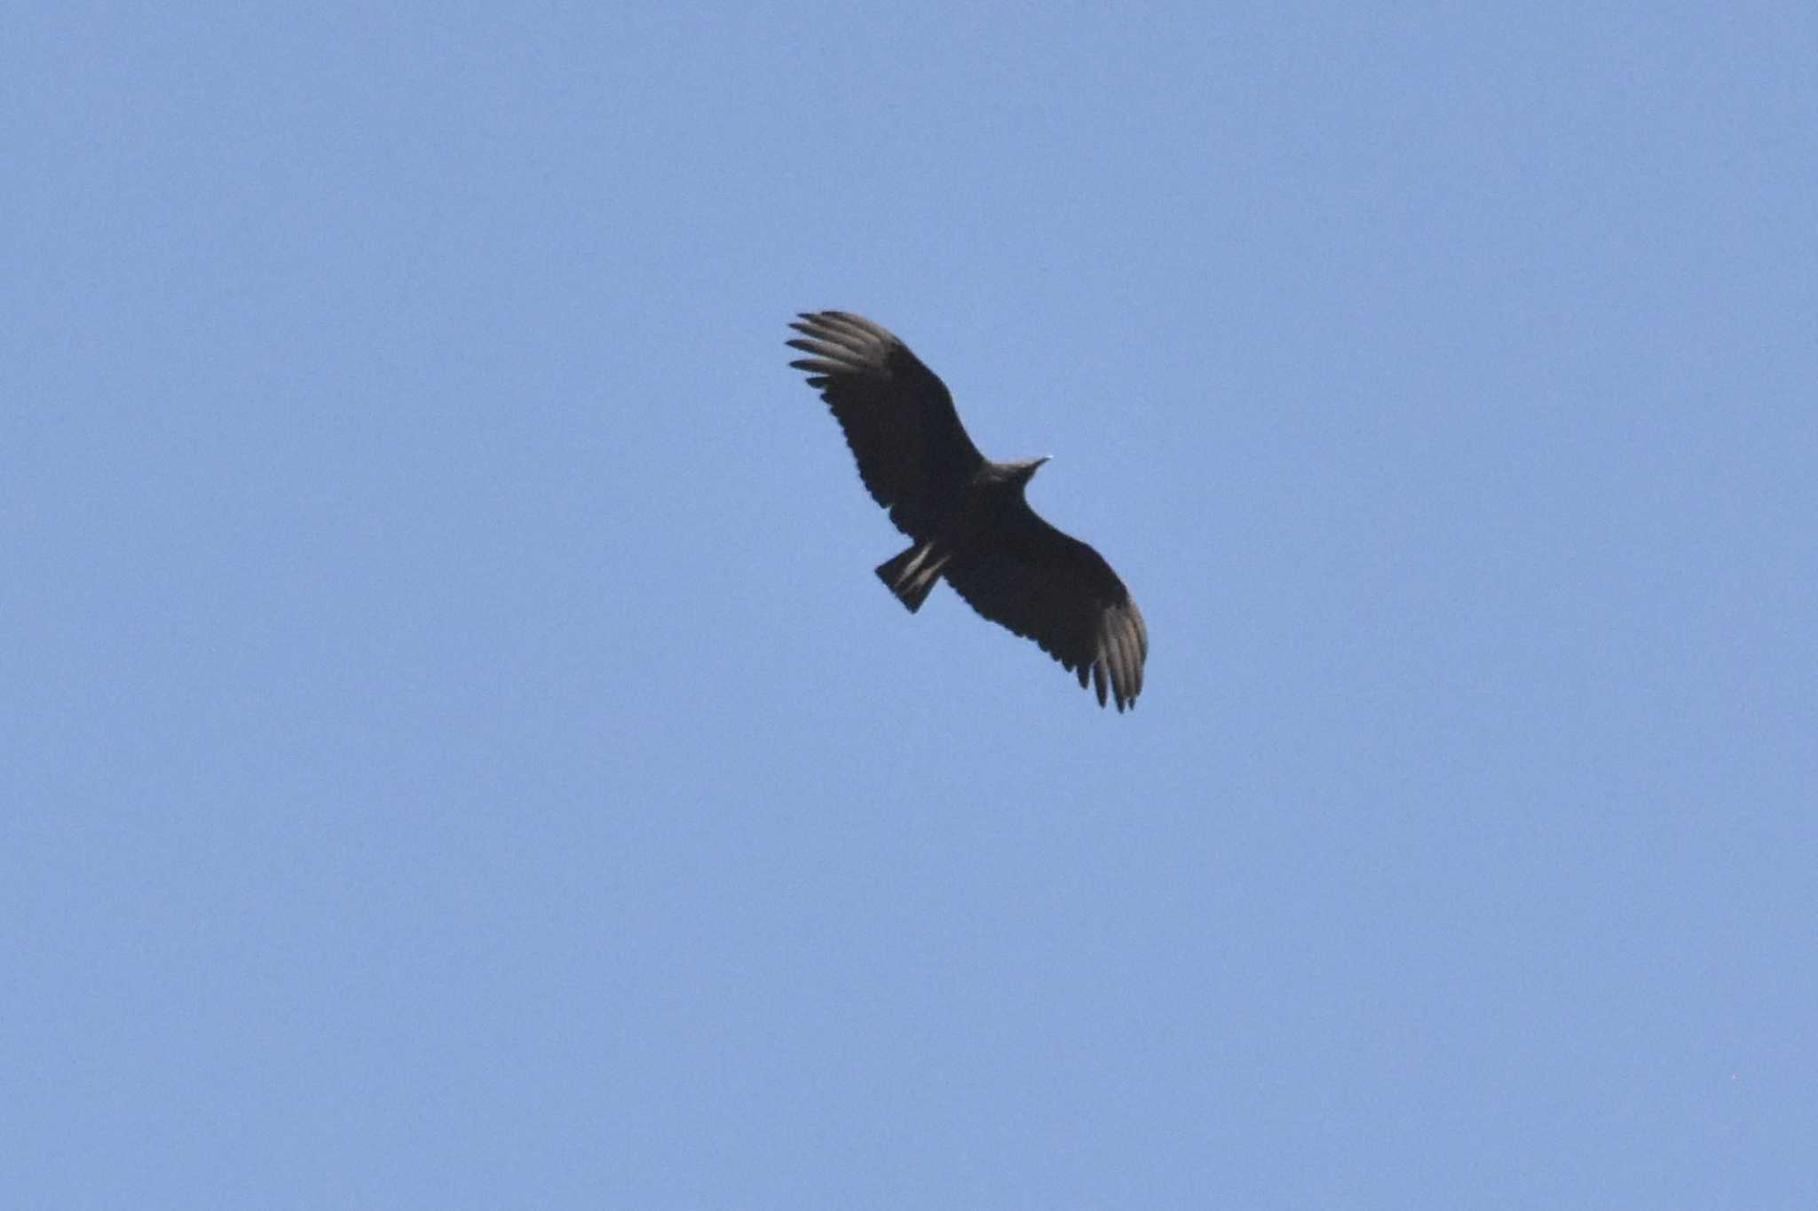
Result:
<instances>
[{"instance_id":1,"label":"vulture's upper left wing with pale grey splayed tip feathers","mask_svg":"<svg viewBox=\"0 0 1818 1211\"><path fill-rule=\"evenodd\" d=\"M942 504L978 471L984 455L965 435L947 385L909 345L845 311L802 313L789 342L845 431L858 476L896 527L924 536Z\"/></svg>"}]
</instances>

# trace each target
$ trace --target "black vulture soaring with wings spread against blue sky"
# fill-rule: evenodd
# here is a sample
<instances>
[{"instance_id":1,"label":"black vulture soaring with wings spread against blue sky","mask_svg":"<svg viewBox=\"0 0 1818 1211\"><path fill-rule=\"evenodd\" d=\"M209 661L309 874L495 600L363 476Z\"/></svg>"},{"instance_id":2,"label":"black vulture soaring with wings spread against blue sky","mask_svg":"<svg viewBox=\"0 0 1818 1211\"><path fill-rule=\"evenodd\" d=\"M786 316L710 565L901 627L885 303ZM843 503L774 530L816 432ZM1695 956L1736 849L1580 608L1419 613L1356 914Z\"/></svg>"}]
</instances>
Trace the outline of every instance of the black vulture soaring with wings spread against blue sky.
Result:
<instances>
[{"instance_id":1,"label":"black vulture soaring with wings spread against blue sky","mask_svg":"<svg viewBox=\"0 0 1818 1211\"><path fill-rule=\"evenodd\" d=\"M914 542L878 565L909 613L942 576L985 618L1033 638L1062 667L1136 704L1149 629L1111 565L1029 507L1047 458L991 462L965 435L947 385L902 340L845 311L802 313L791 347L845 431L858 475Z\"/></svg>"}]
</instances>

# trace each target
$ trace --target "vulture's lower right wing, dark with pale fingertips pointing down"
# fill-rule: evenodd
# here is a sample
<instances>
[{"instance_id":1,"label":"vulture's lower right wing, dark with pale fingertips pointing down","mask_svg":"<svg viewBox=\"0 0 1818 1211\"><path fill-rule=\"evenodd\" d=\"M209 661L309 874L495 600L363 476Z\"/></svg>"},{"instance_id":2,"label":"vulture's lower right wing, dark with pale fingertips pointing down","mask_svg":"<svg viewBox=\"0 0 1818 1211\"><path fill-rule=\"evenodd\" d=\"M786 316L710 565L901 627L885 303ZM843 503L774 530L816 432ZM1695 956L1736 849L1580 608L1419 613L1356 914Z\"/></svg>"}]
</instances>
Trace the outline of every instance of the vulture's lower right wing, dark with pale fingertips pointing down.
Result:
<instances>
[{"instance_id":1,"label":"vulture's lower right wing, dark with pale fingertips pointing down","mask_svg":"<svg viewBox=\"0 0 1818 1211\"><path fill-rule=\"evenodd\" d=\"M1098 706L1109 686L1118 709L1136 704L1149 627L1098 551L1029 509L1013 509L945 567L947 582L985 618L1033 638L1080 678Z\"/></svg>"}]
</instances>

